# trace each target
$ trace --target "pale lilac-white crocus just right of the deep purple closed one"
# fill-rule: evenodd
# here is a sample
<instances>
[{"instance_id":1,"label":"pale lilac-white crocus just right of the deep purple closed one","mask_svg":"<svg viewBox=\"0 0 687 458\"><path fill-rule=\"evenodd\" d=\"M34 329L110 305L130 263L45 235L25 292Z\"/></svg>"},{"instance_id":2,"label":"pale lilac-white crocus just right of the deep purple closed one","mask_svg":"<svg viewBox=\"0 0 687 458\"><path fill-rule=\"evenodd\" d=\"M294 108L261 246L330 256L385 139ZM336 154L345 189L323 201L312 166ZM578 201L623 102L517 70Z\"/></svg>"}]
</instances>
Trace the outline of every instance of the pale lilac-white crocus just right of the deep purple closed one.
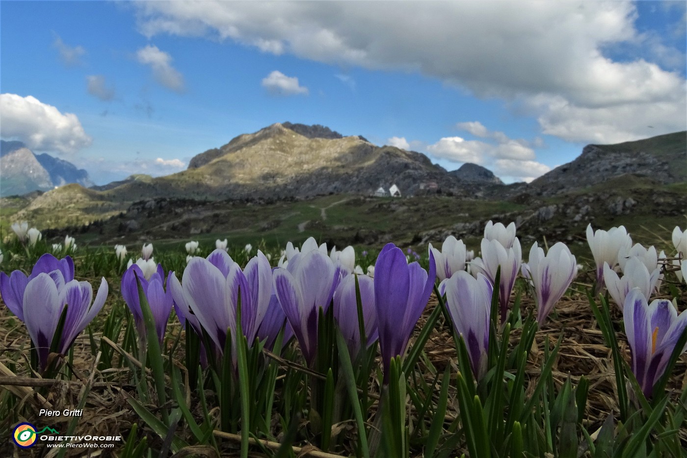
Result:
<instances>
[{"instance_id":1,"label":"pale lilac-white crocus just right of the deep purple closed one","mask_svg":"<svg viewBox=\"0 0 687 458\"><path fill-rule=\"evenodd\" d=\"M489 347L489 315L493 286L483 274L477 278L464 270L455 272L444 283L446 306L453 327L463 337L475 378L486 373Z\"/></svg>"}]
</instances>

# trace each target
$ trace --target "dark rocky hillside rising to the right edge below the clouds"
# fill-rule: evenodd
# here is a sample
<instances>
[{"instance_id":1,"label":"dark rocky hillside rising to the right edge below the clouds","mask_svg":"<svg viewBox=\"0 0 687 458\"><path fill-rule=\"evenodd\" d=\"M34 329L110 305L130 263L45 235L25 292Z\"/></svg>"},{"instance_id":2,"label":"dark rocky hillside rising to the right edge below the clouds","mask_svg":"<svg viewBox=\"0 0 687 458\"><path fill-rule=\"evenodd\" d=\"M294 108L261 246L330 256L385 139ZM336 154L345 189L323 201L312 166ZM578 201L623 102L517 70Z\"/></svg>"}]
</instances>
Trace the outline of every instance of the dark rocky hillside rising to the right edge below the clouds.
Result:
<instances>
[{"instance_id":1,"label":"dark rocky hillside rising to the right edge below the clouds","mask_svg":"<svg viewBox=\"0 0 687 458\"><path fill-rule=\"evenodd\" d=\"M687 182L687 131L618 144L589 144L574 161L541 175L528 192L554 195L635 175L667 184Z\"/></svg>"}]
</instances>

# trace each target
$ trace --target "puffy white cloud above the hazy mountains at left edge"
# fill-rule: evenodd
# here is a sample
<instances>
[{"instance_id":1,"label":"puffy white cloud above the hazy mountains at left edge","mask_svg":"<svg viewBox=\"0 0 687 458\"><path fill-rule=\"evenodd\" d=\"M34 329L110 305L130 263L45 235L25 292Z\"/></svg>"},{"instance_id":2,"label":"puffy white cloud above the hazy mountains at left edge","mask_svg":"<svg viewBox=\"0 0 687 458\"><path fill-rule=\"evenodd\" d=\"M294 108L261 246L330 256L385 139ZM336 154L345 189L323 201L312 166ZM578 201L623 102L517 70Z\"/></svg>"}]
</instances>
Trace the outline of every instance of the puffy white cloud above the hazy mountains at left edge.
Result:
<instances>
[{"instance_id":1,"label":"puffy white cloud above the hazy mountains at left edge","mask_svg":"<svg viewBox=\"0 0 687 458\"><path fill-rule=\"evenodd\" d=\"M79 119L32 96L0 94L0 136L24 142L35 151L74 153L89 146Z\"/></svg>"}]
</instances>

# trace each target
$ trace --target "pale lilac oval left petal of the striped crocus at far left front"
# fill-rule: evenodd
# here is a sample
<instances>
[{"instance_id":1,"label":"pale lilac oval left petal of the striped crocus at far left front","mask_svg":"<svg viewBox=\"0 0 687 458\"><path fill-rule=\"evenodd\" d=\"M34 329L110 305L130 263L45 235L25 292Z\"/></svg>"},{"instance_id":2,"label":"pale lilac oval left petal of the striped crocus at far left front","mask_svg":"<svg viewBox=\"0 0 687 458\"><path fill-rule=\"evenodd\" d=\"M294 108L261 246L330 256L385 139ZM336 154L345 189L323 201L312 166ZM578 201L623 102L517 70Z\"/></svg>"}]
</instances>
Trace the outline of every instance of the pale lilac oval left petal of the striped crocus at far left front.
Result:
<instances>
[{"instance_id":1,"label":"pale lilac oval left petal of the striped crocus at far left front","mask_svg":"<svg viewBox=\"0 0 687 458\"><path fill-rule=\"evenodd\" d=\"M38 352L41 371L45 371L62 309L57 286L48 274L38 274L26 285L23 297L24 323Z\"/></svg>"}]
</instances>

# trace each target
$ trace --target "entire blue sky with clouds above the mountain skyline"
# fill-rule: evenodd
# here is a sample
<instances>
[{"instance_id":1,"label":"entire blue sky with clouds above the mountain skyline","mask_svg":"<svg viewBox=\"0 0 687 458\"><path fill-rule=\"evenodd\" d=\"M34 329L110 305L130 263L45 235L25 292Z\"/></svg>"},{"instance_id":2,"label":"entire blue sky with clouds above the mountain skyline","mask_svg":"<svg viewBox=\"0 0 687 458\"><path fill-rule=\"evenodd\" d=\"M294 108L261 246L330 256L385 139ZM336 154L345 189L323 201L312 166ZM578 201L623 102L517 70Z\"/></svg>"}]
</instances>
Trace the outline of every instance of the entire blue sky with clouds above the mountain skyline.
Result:
<instances>
[{"instance_id":1,"label":"entire blue sky with clouds above the mountain skyline","mask_svg":"<svg viewBox=\"0 0 687 458\"><path fill-rule=\"evenodd\" d=\"M103 184L273 122L506 182L686 129L684 2L0 1L0 134Z\"/></svg>"}]
</instances>

